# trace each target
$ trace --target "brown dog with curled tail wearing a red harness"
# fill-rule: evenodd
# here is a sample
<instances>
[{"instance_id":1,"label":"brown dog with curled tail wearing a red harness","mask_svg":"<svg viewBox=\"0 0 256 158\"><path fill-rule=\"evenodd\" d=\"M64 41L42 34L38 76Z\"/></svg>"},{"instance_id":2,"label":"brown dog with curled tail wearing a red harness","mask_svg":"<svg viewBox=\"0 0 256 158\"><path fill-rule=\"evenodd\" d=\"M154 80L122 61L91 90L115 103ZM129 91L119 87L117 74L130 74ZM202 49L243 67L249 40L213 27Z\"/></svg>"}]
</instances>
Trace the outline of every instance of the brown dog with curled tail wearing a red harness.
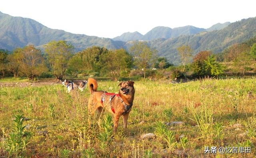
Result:
<instances>
[{"instance_id":1,"label":"brown dog with curled tail wearing a red harness","mask_svg":"<svg viewBox=\"0 0 256 158\"><path fill-rule=\"evenodd\" d=\"M121 82L118 85L120 86L119 94L111 94L105 91L97 91L97 81L93 78L88 78L91 94L88 101L88 111L94 115L96 110L101 112L105 108L114 114L114 132L117 130L120 116L123 115L124 129L126 129L135 93L133 85L133 81Z\"/></svg>"}]
</instances>

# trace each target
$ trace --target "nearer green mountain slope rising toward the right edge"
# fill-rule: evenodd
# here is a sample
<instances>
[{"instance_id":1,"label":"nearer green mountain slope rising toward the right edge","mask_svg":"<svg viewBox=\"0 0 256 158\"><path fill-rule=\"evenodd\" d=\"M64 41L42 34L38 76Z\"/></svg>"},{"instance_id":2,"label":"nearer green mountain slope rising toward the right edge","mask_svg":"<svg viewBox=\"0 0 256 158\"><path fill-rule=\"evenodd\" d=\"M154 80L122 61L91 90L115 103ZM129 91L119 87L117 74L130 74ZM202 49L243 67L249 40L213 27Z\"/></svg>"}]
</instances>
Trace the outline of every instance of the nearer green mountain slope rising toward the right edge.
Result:
<instances>
[{"instance_id":1,"label":"nearer green mountain slope rising toward the right edge","mask_svg":"<svg viewBox=\"0 0 256 158\"><path fill-rule=\"evenodd\" d=\"M173 64L179 64L177 48L190 45L194 54L210 50L219 53L234 43L241 43L256 36L256 18L248 18L230 23L224 29L200 32L195 35L182 35L171 39L154 39L149 45L158 50L161 57L166 57Z\"/></svg>"}]
</instances>

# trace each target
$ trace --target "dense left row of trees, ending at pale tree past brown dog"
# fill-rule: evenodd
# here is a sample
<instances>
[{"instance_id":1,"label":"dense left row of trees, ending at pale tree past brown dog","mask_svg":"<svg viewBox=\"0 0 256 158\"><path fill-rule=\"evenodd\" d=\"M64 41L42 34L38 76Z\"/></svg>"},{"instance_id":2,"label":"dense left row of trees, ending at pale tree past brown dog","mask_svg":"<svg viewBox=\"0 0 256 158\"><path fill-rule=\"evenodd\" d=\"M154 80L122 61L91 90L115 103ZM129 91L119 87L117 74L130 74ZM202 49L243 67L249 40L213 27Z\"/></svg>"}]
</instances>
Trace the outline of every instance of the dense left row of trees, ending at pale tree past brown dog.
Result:
<instances>
[{"instance_id":1,"label":"dense left row of trees, ending at pale tree past brown dog","mask_svg":"<svg viewBox=\"0 0 256 158\"><path fill-rule=\"evenodd\" d=\"M0 64L3 77L11 73L15 78L26 76L34 80L50 72L56 79L62 80L64 74L76 77L81 73L94 72L118 80L132 68L143 69L146 73L146 68L155 64L157 59L157 52L146 43L135 43L131 52L133 55L125 49L108 50L93 46L74 54L74 46L67 41L51 41L44 45L44 53L34 45L17 48L11 54L0 50ZM161 59L160 67L166 65L167 60Z\"/></svg>"}]
</instances>

